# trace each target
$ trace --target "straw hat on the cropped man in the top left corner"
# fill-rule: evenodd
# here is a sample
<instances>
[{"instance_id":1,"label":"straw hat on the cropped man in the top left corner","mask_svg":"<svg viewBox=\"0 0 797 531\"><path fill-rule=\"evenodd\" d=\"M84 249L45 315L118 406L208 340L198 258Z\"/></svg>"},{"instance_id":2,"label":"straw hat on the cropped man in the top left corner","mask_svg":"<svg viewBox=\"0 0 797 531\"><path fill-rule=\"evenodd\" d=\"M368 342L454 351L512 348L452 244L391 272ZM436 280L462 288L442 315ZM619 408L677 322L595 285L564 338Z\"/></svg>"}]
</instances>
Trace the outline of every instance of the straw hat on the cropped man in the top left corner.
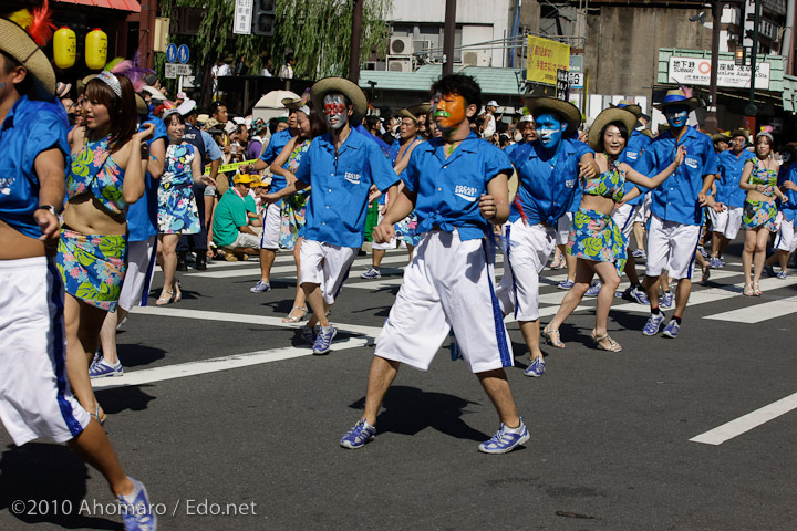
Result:
<instances>
[{"instance_id":1,"label":"straw hat on the cropped man in the top left corner","mask_svg":"<svg viewBox=\"0 0 797 531\"><path fill-rule=\"evenodd\" d=\"M0 19L0 50L17 60L33 79L33 96L52 100L55 94L55 72L50 60L22 28L8 19Z\"/></svg>"}]
</instances>

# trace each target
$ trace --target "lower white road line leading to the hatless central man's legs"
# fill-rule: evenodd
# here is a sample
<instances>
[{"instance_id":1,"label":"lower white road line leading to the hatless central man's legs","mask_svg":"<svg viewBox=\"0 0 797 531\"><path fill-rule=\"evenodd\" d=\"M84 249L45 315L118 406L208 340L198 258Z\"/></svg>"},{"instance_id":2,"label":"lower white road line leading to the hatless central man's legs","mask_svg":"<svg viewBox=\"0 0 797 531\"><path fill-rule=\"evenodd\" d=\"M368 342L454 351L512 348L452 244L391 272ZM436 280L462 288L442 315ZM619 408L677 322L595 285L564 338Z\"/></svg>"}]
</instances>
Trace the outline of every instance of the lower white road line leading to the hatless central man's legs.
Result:
<instances>
[{"instance_id":1,"label":"lower white road line leading to the hatless central man's legs","mask_svg":"<svg viewBox=\"0 0 797 531\"><path fill-rule=\"evenodd\" d=\"M349 348L360 348L369 345L373 345L373 340L371 337L348 337L332 343L334 354ZM163 382L165 379L197 376L199 374L249 367L251 365L261 365L263 363L279 362L282 360L291 360L294 357L310 355L312 355L312 348L310 348L310 346L288 346L270 351L234 354L231 356L214 357L211 360L201 360L197 362L179 363L176 365L126 372L120 377L94 379L92 381L92 387L94 391L115 389L118 387L152 384L154 382Z\"/></svg>"}]
</instances>

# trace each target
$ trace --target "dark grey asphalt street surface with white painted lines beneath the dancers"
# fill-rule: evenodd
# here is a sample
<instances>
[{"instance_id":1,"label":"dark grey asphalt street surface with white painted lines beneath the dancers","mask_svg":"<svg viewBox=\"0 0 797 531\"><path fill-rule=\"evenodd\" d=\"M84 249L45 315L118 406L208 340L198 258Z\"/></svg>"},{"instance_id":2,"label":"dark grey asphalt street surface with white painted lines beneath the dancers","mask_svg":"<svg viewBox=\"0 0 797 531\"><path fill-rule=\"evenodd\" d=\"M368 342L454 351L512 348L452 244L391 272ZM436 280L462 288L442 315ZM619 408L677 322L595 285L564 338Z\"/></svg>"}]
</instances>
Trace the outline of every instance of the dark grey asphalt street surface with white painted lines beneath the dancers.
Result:
<instances>
[{"instance_id":1,"label":"dark grey asphalt street surface with white painted lines beneath the dancers","mask_svg":"<svg viewBox=\"0 0 797 531\"><path fill-rule=\"evenodd\" d=\"M643 336L648 309L615 299L609 330L623 350L598 351L586 299L535 379L509 320L508 377L531 440L505 456L477 451L497 417L445 345L427 373L398 374L374 441L340 448L362 413L400 250L381 280L360 279L370 257L358 259L328 356L281 322L289 252L262 294L249 293L256 261L180 273L183 301L120 330L125 375L95 381L97 396L163 530L794 530L797 274L742 296L738 252L694 287L677 340ZM563 271L544 275L547 323ZM0 430L0 530L120 529L102 476L66 447L15 448Z\"/></svg>"}]
</instances>

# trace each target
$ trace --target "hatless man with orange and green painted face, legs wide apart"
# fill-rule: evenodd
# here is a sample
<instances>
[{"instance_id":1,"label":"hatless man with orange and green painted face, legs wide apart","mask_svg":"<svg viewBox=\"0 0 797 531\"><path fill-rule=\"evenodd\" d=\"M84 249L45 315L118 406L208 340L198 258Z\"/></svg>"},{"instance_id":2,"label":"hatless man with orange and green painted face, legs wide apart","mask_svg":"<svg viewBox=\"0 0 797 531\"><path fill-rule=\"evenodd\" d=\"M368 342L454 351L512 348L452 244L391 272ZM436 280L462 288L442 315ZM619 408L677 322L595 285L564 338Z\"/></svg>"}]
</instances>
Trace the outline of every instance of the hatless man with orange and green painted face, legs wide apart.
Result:
<instances>
[{"instance_id":1,"label":"hatless man with orange and green painted face, legs wide apart","mask_svg":"<svg viewBox=\"0 0 797 531\"><path fill-rule=\"evenodd\" d=\"M493 400L500 429L479 450L505 454L529 439L518 417L504 367L511 342L494 290L494 226L509 215L509 159L470 131L482 90L465 75L448 75L432 91L432 116L443 132L413 152L395 197L374 229L377 241L415 207L421 242L382 329L369 375L365 412L341 439L361 448L376 433L376 416L402 363L426 371L453 329L459 350Z\"/></svg>"}]
</instances>

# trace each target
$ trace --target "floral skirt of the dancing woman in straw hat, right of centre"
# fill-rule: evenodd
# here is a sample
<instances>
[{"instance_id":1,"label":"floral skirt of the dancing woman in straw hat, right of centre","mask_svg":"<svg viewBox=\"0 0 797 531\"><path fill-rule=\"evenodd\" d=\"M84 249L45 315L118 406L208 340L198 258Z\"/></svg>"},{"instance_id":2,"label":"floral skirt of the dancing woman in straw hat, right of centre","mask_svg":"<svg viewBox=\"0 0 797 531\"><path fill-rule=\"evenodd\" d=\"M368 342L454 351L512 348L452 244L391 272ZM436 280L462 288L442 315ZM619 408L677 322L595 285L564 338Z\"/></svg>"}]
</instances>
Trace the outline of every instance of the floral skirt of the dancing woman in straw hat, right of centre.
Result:
<instances>
[{"instance_id":1,"label":"floral skirt of the dancing woman in straw hat, right of centre","mask_svg":"<svg viewBox=\"0 0 797 531\"><path fill-rule=\"evenodd\" d=\"M612 262L622 274L625 267L628 242L611 216L594 210L579 210L573 216L569 254L594 262Z\"/></svg>"}]
</instances>

